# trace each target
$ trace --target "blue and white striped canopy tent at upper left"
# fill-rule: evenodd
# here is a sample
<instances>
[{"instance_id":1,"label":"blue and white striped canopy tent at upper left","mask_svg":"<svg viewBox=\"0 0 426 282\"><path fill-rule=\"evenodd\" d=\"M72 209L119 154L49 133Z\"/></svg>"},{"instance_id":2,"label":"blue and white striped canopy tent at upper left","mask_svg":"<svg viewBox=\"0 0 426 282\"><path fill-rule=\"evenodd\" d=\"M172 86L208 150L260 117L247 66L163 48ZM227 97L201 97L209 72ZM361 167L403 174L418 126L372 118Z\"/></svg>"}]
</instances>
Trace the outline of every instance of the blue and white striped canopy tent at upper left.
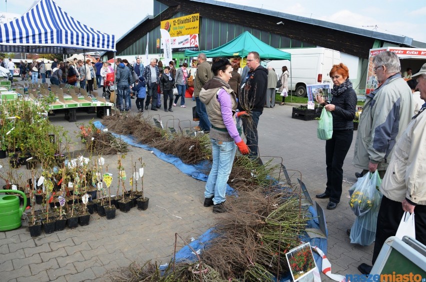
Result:
<instances>
[{"instance_id":1,"label":"blue and white striped canopy tent at upper left","mask_svg":"<svg viewBox=\"0 0 426 282\"><path fill-rule=\"evenodd\" d=\"M25 14L0 24L0 52L73 54L115 52L114 35L69 16L52 0L39 0Z\"/></svg>"}]
</instances>

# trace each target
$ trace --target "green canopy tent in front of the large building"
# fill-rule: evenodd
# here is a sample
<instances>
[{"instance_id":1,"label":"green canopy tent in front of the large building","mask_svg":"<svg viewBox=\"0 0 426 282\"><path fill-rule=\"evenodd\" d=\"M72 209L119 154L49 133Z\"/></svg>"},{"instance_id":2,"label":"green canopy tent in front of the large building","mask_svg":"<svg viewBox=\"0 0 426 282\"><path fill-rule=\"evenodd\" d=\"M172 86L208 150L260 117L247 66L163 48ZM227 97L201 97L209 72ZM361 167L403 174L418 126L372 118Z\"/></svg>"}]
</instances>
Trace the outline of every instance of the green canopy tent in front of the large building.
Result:
<instances>
[{"instance_id":1,"label":"green canopy tent in front of the large building","mask_svg":"<svg viewBox=\"0 0 426 282\"><path fill-rule=\"evenodd\" d=\"M244 31L231 41L208 51L185 50L186 57L196 57L204 53L208 58L212 57L247 57L251 51L256 51L262 60L291 60L291 54L278 50L254 37L250 32Z\"/></svg>"}]
</instances>

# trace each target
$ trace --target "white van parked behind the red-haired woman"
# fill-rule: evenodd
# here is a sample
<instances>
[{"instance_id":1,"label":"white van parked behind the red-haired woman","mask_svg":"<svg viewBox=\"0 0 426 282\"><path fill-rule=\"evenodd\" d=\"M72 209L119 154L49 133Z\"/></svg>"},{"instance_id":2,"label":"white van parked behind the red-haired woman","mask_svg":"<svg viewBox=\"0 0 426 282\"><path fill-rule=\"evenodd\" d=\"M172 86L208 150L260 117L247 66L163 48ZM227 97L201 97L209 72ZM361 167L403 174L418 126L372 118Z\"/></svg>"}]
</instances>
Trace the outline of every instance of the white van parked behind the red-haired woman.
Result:
<instances>
[{"instance_id":1,"label":"white van parked behind the red-haired woman","mask_svg":"<svg viewBox=\"0 0 426 282\"><path fill-rule=\"evenodd\" d=\"M340 63L340 52L327 48L296 48L280 49L291 54L291 68L288 60L273 60L267 63L281 76L282 66L287 66L290 72L288 90L295 95L306 96L306 84L330 83L328 74L334 64Z\"/></svg>"}]
</instances>

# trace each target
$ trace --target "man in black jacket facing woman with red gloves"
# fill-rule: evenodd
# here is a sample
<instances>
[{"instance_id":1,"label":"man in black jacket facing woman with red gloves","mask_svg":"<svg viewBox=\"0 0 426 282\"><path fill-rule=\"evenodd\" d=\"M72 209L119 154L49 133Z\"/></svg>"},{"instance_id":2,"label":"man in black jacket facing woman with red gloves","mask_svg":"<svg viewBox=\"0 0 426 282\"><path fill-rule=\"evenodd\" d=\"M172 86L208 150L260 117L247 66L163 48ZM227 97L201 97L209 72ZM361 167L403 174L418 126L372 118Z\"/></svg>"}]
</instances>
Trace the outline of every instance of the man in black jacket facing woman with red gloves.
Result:
<instances>
[{"instance_id":1,"label":"man in black jacket facing woman with red gloves","mask_svg":"<svg viewBox=\"0 0 426 282\"><path fill-rule=\"evenodd\" d=\"M242 118L242 129L247 146L250 148L250 156L258 156L257 124L263 112L266 101L267 69L260 65L260 56L257 52L249 52L247 55L248 78L243 91L239 94L238 109L246 111L251 117ZM257 161L261 164L260 158Z\"/></svg>"}]
</instances>

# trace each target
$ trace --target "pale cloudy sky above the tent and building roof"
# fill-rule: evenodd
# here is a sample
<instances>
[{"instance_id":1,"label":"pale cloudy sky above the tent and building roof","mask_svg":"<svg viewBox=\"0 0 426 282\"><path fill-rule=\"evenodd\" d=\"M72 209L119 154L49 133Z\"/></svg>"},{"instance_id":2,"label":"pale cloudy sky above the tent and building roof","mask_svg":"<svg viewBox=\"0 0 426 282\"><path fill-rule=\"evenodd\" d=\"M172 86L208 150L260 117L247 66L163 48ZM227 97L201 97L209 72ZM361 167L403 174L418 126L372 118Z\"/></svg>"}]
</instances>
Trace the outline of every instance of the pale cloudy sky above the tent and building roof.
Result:
<instances>
[{"instance_id":1,"label":"pale cloudy sky above the tent and building roof","mask_svg":"<svg viewBox=\"0 0 426 282\"><path fill-rule=\"evenodd\" d=\"M222 0L312 17L426 42L425 0ZM33 0L7 0L7 12L24 13ZM54 0L70 16L116 38L152 14L152 0ZM264 2L265 4L261 4ZM0 0L0 11L6 11ZM284 27L285 28L285 27Z\"/></svg>"}]
</instances>

